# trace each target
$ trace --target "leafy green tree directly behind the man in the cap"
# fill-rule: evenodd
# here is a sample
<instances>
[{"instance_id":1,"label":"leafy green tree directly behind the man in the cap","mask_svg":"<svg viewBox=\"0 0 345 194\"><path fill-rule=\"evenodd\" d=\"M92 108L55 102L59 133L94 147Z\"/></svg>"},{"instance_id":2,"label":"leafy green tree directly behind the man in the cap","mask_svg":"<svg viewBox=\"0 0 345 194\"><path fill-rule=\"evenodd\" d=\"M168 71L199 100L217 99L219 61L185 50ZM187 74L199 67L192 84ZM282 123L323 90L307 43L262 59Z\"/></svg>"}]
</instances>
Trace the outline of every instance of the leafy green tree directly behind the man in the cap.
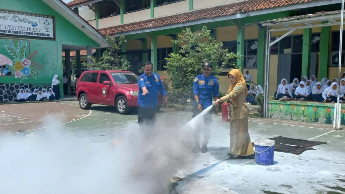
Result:
<instances>
[{"instance_id":1,"label":"leafy green tree directly behind the man in the cap","mask_svg":"<svg viewBox=\"0 0 345 194\"><path fill-rule=\"evenodd\" d=\"M166 71L172 82L170 94L178 95L178 98L193 98L193 80L201 74L203 62L210 61L213 65L213 75L218 76L221 69L218 67L219 61L225 61L228 54L227 49L223 49L223 43L218 42L210 35L210 30L204 26L201 31L192 32L190 28L183 30L183 35L179 35L178 40L172 43L183 43L179 54L171 53L167 58Z\"/></svg>"}]
</instances>

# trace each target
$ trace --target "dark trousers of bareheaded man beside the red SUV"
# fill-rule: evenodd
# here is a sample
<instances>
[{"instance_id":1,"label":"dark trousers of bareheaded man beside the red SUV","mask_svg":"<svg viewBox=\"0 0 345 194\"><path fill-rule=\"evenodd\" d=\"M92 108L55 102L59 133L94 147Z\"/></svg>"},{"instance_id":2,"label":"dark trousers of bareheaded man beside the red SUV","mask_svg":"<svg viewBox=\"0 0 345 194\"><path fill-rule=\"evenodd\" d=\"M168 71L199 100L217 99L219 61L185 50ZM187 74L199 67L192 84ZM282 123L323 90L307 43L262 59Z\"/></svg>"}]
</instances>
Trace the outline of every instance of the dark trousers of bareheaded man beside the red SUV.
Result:
<instances>
[{"instance_id":1,"label":"dark trousers of bareheaded man beside the red SUV","mask_svg":"<svg viewBox=\"0 0 345 194\"><path fill-rule=\"evenodd\" d=\"M157 117L157 107L140 107L138 109L138 124L141 126L154 126Z\"/></svg>"}]
</instances>

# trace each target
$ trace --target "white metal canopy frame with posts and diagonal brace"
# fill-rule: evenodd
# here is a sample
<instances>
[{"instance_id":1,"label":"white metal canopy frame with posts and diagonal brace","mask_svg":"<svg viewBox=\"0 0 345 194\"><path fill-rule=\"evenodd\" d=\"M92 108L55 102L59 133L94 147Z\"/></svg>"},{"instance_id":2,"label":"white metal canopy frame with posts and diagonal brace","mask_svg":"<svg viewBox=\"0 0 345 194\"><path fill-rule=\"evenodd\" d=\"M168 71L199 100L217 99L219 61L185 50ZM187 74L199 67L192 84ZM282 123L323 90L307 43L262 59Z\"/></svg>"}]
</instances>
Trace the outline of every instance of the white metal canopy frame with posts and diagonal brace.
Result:
<instances>
[{"instance_id":1,"label":"white metal canopy frame with posts and diagonal brace","mask_svg":"<svg viewBox=\"0 0 345 194\"><path fill-rule=\"evenodd\" d=\"M275 43L277 43L278 41L282 40L283 38L285 38L286 36L290 35L292 32L294 32L297 29L305 29L305 28L314 28L314 27L325 27L325 26L336 26L336 25L340 25L341 26L341 35L340 38L342 38L342 29L343 29L343 25L341 25L341 23L343 23L343 12L344 12L344 0L342 0L342 14L336 14L333 16L320 16L320 17L314 17L314 18L306 18L306 19L301 19L301 20L293 20L293 21L287 21L287 22L280 22L280 23L262 23L262 26L266 27L266 52L265 52L265 91L264 91L264 118L268 117L268 89L269 89L269 68L270 68L270 47L272 45L274 45ZM341 19L341 22L337 22L336 20ZM313 22L322 22L322 21L328 21L328 23L321 23L321 24L312 24ZM294 25L294 24L300 24L300 23L304 23L303 26L297 26L297 27L289 27L289 25ZM283 28L277 28L277 29L272 29L272 27L276 27L276 26L283 26ZM283 36L280 36L278 39L276 39L275 41L271 42L271 33L272 32L277 32L277 31L287 31ZM340 53L339 53L339 69L338 69L338 76L340 77L340 71L341 71L341 46L342 46L342 39L340 39L339 41L340 43ZM339 78L340 80L340 78ZM339 84L339 83L338 83ZM337 100L337 104L335 105L335 109L334 109L334 113L336 113L336 111L340 112L340 104L339 104L339 86L338 86L338 100ZM337 114L337 117L334 117L335 122L333 127L335 129L339 129L340 128L340 114ZM339 119L336 119L339 118Z\"/></svg>"}]
</instances>

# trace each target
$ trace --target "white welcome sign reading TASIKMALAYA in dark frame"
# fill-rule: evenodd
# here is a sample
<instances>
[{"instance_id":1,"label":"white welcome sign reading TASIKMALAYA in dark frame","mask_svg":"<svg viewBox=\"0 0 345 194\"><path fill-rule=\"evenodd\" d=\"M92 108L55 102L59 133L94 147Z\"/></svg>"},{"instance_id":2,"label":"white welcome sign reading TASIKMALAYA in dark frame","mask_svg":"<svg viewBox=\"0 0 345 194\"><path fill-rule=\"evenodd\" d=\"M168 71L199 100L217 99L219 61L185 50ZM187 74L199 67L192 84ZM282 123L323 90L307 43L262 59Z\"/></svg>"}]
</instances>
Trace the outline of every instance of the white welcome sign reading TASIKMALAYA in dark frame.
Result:
<instances>
[{"instance_id":1,"label":"white welcome sign reading TASIKMALAYA in dark frame","mask_svg":"<svg viewBox=\"0 0 345 194\"><path fill-rule=\"evenodd\" d=\"M54 16L0 9L0 36L55 40Z\"/></svg>"}]
</instances>

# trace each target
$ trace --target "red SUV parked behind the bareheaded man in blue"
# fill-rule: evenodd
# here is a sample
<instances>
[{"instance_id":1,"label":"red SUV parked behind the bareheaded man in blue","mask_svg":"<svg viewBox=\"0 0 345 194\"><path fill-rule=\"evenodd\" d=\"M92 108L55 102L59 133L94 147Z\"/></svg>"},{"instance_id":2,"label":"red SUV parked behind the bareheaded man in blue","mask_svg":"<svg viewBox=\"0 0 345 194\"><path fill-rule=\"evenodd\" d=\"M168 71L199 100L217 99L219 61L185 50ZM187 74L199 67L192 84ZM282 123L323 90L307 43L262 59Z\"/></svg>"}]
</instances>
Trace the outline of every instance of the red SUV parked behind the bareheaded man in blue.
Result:
<instances>
[{"instance_id":1,"label":"red SUV parked behind the bareheaded man in blue","mask_svg":"<svg viewBox=\"0 0 345 194\"><path fill-rule=\"evenodd\" d=\"M131 71L84 71L76 84L81 109L101 104L115 106L119 114L129 114L133 107L138 107L138 93L138 76Z\"/></svg>"}]
</instances>

